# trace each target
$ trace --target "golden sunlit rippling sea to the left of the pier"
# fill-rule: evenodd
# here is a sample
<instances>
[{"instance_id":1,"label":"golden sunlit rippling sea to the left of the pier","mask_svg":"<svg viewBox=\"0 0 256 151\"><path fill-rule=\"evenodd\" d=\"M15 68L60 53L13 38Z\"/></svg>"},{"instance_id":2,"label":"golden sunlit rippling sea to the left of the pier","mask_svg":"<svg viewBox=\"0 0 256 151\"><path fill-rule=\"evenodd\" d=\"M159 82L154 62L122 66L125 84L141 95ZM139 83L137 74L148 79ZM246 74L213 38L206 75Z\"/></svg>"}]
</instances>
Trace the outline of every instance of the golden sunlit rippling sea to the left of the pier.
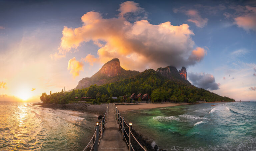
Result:
<instances>
[{"instance_id":1,"label":"golden sunlit rippling sea to the left of the pier","mask_svg":"<svg viewBox=\"0 0 256 151\"><path fill-rule=\"evenodd\" d=\"M94 133L98 115L0 102L0 150L81 151Z\"/></svg>"}]
</instances>

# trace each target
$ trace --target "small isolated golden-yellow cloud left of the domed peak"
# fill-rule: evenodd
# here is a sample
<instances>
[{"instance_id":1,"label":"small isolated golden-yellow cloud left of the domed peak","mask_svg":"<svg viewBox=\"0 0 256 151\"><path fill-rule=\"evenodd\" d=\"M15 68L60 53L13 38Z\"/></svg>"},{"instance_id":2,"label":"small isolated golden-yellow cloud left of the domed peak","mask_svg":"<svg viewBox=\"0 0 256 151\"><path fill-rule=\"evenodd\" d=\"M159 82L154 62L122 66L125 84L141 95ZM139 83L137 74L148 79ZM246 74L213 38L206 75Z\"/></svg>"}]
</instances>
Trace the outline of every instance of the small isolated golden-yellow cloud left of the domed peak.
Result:
<instances>
[{"instance_id":1,"label":"small isolated golden-yellow cloud left of the domed peak","mask_svg":"<svg viewBox=\"0 0 256 151\"><path fill-rule=\"evenodd\" d=\"M83 63L76 60L76 58L72 58L68 61L68 70L70 70L70 74L73 75L73 78L80 74L80 71L83 70Z\"/></svg>"}]
</instances>

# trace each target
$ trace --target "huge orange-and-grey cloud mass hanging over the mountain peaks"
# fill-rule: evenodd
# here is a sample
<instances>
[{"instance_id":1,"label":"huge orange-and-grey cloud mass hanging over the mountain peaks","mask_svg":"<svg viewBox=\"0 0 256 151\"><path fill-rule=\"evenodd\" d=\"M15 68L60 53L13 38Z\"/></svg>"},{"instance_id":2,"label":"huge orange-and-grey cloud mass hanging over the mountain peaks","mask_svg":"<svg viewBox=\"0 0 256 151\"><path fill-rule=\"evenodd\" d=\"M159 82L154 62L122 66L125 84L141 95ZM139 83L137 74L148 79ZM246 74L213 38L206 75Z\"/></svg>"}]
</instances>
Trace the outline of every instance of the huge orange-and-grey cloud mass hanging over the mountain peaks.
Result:
<instances>
[{"instance_id":1,"label":"huge orange-and-grey cloud mass hanging over the mountain peaks","mask_svg":"<svg viewBox=\"0 0 256 151\"><path fill-rule=\"evenodd\" d=\"M206 55L204 48L194 48L194 35L187 24L179 26L164 22L158 25L147 20L130 23L125 14L141 11L138 3L124 2L120 5L118 18L104 19L98 12L87 12L81 17L82 27L64 27L59 52L52 57L65 57L84 42L93 41L100 49L98 56L88 54L83 61L105 63L119 58L122 67L145 70L165 66L190 66L200 62Z\"/></svg>"}]
</instances>

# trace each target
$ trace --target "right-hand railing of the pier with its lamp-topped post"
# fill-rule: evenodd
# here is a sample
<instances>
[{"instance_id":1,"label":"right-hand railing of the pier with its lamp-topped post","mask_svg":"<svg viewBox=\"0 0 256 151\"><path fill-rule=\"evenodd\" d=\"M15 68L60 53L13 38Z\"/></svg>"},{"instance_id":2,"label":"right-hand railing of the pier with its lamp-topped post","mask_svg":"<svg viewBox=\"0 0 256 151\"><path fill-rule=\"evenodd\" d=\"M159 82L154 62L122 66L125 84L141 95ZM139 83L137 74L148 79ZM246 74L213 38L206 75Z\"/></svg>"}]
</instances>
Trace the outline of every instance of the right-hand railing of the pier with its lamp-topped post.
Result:
<instances>
[{"instance_id":1,"label":"right-hand railing of the pier with its lamp-topped post","mask_svg":"<svg viewBox=\"0 0 256 151\"><path fill-rule=\"evenodd\" d=\"M135 138L135 136L132 134L131 129L132 129L132 123L129 123L129 125L125 122L124 117L122 117L115 106L115 117L117 119L118 123L118 128L122 131L122 139L125 140L126 144L129 146L129 151L134 150L134 147L131 144L131 139L133 138L135 142L139 145L140 150L147 151L141 144L140 142ZM128 133L127 133L128 130ZM137 151L138 149L136 149Z\"/></svg>"}]
</instances>

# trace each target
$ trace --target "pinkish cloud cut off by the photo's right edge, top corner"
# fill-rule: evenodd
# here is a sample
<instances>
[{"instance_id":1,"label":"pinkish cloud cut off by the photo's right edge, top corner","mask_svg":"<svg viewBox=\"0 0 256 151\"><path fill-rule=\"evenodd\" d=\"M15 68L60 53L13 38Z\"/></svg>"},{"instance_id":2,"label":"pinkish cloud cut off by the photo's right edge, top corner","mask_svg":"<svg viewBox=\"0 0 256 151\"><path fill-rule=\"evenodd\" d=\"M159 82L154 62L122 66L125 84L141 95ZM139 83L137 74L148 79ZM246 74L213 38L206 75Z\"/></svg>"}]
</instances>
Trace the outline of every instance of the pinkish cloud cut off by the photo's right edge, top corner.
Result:
<instances>
[{"instance_id":1,"label":"pinkish cloud cut off by the photo's right edge, top corner","mask_svg":"<svg viewBox=\"0 0 256 151\"><path fill-rule=\"evenodd\" d=\"M229 9L235 12L232 14L224 13L226 18L233 19L234 24L246 31L256 31L256 7L238 5L230 6Z\"/></svg>"}]
</instances>

